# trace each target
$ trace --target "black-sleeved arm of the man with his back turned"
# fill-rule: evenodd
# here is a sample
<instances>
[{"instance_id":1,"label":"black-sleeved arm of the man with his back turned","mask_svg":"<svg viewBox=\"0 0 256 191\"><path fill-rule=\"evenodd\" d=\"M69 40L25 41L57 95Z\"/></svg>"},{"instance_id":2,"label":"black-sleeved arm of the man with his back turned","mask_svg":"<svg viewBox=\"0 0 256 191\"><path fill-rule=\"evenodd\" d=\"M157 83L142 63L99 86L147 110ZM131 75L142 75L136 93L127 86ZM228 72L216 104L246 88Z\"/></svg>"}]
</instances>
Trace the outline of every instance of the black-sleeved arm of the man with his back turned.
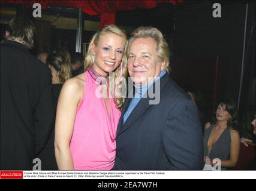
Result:
<instances>
[{"instance_id":1,"label":"black-sleeved arm of the man with his back turned","mask_svg":"<svg viewBox=\"0 0 256 191\"><path fill-rule=\"evenodd\" d=\"M43 93L35 107L34 123L35 123L35 153L39 153L46 144L50 133L54 128L55 108L52 94L52 78L48 74L47 81L43 88Z\"/></svg>"}]
</instances>

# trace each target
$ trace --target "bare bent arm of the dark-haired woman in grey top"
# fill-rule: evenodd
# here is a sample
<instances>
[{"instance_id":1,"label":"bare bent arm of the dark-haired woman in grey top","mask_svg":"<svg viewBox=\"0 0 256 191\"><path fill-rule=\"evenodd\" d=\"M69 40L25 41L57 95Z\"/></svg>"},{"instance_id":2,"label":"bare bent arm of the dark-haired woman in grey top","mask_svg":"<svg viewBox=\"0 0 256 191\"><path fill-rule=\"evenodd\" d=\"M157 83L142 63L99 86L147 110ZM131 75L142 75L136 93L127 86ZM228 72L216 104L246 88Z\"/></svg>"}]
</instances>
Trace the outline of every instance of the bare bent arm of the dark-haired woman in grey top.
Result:
<instances>
[{"instance_id":1,"label":"bare bent arm of the dark-haired woman in grey top","mask_svg":"<svg viewBox=\"0 0 256 191\"><path fill-rule=\"evenodd\" d=\"M230 159L221 161L221 167L234 167L238 161L240 151L240 135L236 130L231 130L230 135Z\"/></svg>"}]
</instances>

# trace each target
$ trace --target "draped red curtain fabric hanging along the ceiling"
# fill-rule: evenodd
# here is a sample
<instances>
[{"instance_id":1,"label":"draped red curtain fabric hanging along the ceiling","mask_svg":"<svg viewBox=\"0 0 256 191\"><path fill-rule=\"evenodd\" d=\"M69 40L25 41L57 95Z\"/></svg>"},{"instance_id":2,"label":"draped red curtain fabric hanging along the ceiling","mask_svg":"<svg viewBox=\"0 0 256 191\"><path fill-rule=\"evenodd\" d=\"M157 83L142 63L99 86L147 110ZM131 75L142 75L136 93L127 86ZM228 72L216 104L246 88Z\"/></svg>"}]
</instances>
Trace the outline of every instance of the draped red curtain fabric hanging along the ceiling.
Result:
<instances>
[{"instance_id":1,"label":"draped red curtain fabric hanging along the ceiling","mask_svg":"<svg viewBox=\"0 0 256 191\"><path fill-rule=\"evenodd\" d=\"M156 7L161 2L169 2L176 5L182 0L142 0L142 1L58 1L58 0L2 0L2 3L23 4L25 7L32 7L33 4L41 4L42 9L47 7L74 7L81 8L83 13L89 15L101 14L101 26L115 24L115 12L124 10L150 9Z\"/></svg>"}]
</instances>

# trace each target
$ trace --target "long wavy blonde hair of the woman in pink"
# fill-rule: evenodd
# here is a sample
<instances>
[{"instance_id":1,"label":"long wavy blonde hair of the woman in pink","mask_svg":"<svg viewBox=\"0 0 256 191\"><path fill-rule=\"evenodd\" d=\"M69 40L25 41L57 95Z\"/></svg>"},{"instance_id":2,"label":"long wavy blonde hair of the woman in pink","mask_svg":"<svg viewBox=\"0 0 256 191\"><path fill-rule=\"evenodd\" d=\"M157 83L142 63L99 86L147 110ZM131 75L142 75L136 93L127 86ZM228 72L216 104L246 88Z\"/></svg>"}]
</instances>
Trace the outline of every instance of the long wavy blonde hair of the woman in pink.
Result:
<instances>
[{"instance_id":1,"label":"long wavy blonde hair of the woman in pink","mask_svg":"<svg viewBox=\"0 0 256 191\"><path fill-rule=\"evenodd\" d=\"M112 91L112 94L115 95L115 104L116 107L121 110L122 106L125 102L125 95L122 95L122 87L124 87L124 80L121 79L125 79L128 75L127 72L127 56L125 55L125 50L127 47L127 35L125 34L125 32L121 29L119 29L119 27L110 24L109 26L104 27L103 29L98 30L97 33L94 34L94 36L92 36L91 42L89 44L88 47L88 51L86 53L86 57L85 57L85 70L88 69L89 67L92 66L93 64L93 56L92 56L92 44L94 44L95 46L98 45L98 42L100 41L100 39L102 38L102 36L106 35L107 33L114 33L115 35L121 36L122 39L124 39L125 42L125 47L124 47L124 55L122 58L122 64L121 67L117 67L117 69L114 71L114 76L112 79L112 82L117 82L117 84L113 84L110 83L110 90L114 90L114 92Z\"/></svg>"}]
</instances>

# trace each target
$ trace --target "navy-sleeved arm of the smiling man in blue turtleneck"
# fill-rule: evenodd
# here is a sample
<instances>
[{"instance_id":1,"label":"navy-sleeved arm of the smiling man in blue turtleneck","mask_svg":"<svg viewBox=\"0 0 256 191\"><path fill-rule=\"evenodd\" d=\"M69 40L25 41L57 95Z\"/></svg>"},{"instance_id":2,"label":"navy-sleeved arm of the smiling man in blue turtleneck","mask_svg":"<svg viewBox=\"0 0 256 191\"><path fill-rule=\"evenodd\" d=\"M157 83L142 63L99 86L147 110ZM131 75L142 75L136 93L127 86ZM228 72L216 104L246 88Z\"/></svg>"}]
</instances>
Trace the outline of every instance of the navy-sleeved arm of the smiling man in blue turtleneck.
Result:
<instances>
[{"instance_id":1,"label":"navy-sleeved arm of the smiling man in blue turtleneck","mask_svg":"<svg viewBox=\"0 0 256 191\"><path fill-rule=\"evenodd\" d=\"M162 136L171 169L202 170L201 122L198 109L191 100L181 100L171 109Z\"/></svg>"}]
</instances>

